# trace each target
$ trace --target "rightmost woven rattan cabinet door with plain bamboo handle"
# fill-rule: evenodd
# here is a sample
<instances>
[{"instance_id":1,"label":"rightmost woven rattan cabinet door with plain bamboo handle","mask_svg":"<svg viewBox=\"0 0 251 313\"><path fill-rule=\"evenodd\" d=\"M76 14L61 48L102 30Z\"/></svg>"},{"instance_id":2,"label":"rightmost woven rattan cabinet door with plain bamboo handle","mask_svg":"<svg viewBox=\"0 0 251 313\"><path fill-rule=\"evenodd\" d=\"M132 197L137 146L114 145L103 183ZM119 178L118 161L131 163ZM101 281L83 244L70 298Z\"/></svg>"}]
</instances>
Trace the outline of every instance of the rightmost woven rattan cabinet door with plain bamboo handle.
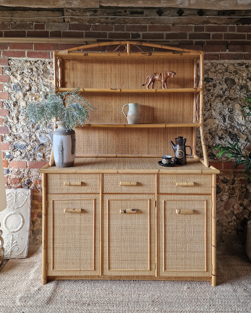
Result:
<instances>
[{"instance_id":1,"label":"rightmost woven rattan cabinet door with plain bamboo handle","mask_svg":"<svg viewBox=\"0 0 251 313\"><path fill-rule=\"evenodd\" d=\"M211 276L211 196L159 195L159 276Z\"/></svg>"}]
</instances>

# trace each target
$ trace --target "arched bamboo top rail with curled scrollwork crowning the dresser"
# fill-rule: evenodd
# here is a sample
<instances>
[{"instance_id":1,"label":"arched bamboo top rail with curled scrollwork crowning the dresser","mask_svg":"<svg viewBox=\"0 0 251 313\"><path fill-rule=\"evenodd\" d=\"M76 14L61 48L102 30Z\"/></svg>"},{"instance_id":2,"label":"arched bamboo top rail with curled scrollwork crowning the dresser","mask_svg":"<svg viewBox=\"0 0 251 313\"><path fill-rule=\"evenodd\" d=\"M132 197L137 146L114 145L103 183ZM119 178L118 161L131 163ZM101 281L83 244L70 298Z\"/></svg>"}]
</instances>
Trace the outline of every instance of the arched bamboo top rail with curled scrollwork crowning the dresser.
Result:
<instances>
[{"instance_id":1,"label":"arched bamboo top rail with curled scrollwork crowning the dresser","mask_svg":"<svg viewBox=\"0 0 251 313\"><path fill-rule=\"evenodd\" d=\"M119 47L117 47L114 51L112 52L94 52L94 53L86 53L86 52L81 52L77 53L76 51L80 50L86 50L86 49L91 49L91 48L96 48L96 47L103 47L103 46L113 46L113 45L119 45L120 46L125 46L125 50L122 52L116 51ZM131 47L136 46L139 51L137 52L132 52ZM110 55L111 57L114 56L122 56L127 54L127 56L157 56L158 57L166 57L168 52L145 52L140 49L141 46L145 47L152 47L152 48L159 48L159 49L166 49L166 50L171 50L173 52L169 52L173 57L174 54L178 54L179 56L182 55L186 58L189 59L197 59L200 57L200 55L203 55L203 51L200 50L191 50L191 49L182 49L182 48L177 48L177 47L171 47L167 45L162 45L162 44L153 44L153 43L147 43L147 42L138 42L138 41L111 41L111 42L100 42L100 43L95 43L95 44L88 44L84 46L79 46L76 48L71 48L71 49L66 49L66 50L61 50L61 51L56 51L56 55L60 58L69 58L69 57L79 57L79 56L93 56L93 55L102 55L105 54L106 57ZM140 51L142 53L140 53Z\"/></svg>"}]
</instances>

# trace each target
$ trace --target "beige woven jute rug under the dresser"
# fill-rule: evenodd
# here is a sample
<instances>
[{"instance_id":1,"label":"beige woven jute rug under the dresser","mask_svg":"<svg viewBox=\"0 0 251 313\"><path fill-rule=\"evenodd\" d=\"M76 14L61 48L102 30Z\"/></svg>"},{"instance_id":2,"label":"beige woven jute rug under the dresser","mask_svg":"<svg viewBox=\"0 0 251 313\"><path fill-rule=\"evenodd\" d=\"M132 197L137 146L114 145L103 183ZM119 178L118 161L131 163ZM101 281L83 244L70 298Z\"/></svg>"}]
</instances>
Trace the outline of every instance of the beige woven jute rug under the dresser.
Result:
<instances>
[{"instance_id":1,"label":"beige woven jute rug under the dresser","mask_svg":"<svg viewBox=\"0 0 251 313\"><path fill-rule=\"evenodd\" d=\"M41 253L12 259L0 272L1 313L251 312L251 262L217 256L209 282L59 280L41 285Z\"/></svg>"}]
</instances>

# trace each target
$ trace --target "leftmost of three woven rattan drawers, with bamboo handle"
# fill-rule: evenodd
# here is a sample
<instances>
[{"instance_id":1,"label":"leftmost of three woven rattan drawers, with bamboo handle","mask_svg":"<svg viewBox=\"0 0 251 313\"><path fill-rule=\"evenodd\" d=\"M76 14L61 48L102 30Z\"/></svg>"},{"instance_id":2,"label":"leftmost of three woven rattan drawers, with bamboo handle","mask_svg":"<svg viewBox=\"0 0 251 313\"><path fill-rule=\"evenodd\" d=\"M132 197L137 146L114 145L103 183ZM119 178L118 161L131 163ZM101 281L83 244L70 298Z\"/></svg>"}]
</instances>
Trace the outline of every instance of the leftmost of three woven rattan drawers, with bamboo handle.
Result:
<instances>
[{"instance_id":1,"label":"leftmost of three woven rattan drawers, with bamboo handle","mask_svg":"<svg viewBox=\"0 0 251 313\"><path fill-rule=\"evenodd\" d=\"M96 192L99 192L99 174L47 174L47 193Z\"/></svg>"}]
</instances>

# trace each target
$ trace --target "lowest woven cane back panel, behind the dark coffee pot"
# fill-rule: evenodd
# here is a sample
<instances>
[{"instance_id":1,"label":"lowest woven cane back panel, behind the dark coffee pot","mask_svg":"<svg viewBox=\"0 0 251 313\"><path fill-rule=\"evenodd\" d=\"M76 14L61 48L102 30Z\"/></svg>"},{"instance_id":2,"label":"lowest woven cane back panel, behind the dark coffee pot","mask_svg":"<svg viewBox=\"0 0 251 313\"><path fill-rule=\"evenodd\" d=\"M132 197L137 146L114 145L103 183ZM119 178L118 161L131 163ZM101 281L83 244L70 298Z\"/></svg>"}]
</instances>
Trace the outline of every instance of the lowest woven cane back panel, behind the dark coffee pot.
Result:
<instances>
[{"instance_id":1,"label":"lowest woven cane back panel, behind the dark coffee pot","mask_svg":"<svg viewBox=\"0 0 251 313\"><path fill-rule=\"evenodd\" d=\"M173 154L170 144L177 136L187 138L193 147L193 129L177 128L76 128L76 154L82 155L167 155Z\"/></svg>"}]
</instances>

